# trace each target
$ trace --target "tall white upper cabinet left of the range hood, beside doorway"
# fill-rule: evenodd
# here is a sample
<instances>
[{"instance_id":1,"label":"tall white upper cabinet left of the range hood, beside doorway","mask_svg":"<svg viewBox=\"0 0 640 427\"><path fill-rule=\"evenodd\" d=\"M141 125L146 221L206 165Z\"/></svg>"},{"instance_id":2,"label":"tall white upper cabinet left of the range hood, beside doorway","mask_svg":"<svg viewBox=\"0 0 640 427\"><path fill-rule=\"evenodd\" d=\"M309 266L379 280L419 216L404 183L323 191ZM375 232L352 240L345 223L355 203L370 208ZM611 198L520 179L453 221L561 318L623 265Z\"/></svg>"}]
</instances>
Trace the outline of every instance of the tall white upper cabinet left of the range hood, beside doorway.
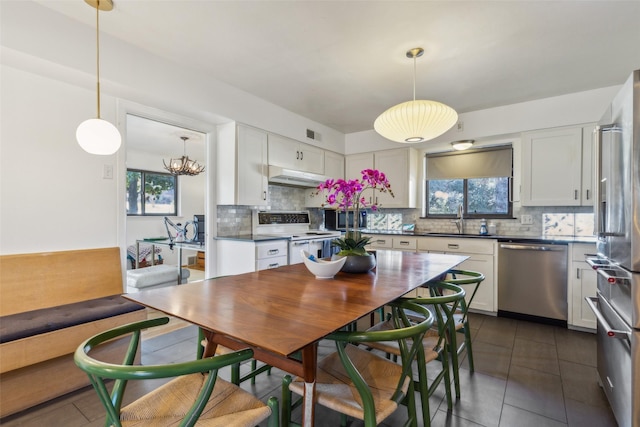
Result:
<instances>
[{"instance_id":1,"label":"tall white upper cabinet left of the range hood, beside doorway","mask_svg":"<svg viewBox=\"0 0 640 427\"><path fill-rule=\"evenodd\" d=\"M217 160L219 205L269 204L266 132L244 125L221 126Z\"/></svg>"}]
</instances>

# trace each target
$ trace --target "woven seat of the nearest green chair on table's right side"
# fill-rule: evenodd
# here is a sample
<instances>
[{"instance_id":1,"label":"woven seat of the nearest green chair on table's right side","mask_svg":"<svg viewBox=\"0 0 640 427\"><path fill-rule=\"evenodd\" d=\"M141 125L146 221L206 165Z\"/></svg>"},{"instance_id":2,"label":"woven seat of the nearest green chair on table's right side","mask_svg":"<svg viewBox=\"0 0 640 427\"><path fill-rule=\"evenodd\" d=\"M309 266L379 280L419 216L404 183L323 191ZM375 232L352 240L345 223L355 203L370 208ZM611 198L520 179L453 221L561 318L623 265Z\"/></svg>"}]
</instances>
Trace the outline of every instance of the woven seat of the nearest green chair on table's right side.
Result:
<instances>
[{"instance_id":1,"label":"woven seat of the nearest green chair on table's right side","mask_svg":"<svg viewBox=\"0 0 640 427\"><path fill-rule=\"evenodd\" d=\"M379 423L398 407L398 404L391 400L391 396L398 386L402 367L353 345L348 345L346 350L349 358L371 389L376 408L376 422ZM289 388L292 392L302 396L304 380L295 378ZM402 390L406 393L408 388L409 379L407 378ZM364 418L362 400L358 390L345 371L337 353L330 354L318 363L316 401L340 413L358 419Z\"/></svg>"}]
</instances>

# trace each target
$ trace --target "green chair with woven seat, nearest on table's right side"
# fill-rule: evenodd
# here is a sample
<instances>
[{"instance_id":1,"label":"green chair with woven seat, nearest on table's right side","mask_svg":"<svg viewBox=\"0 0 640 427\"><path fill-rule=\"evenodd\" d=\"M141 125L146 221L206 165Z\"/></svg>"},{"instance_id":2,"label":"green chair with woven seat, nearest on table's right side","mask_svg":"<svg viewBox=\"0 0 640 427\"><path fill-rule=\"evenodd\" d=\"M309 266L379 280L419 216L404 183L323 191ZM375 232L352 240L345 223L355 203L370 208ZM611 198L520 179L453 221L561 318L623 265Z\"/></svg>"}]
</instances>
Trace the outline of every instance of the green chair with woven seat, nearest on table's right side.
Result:
<instances>
[{"instance_id":1,"label":"green chair with woven seat, nearest on table's right side","mask_svg":"<svg viewBox=\"0 0 640 427\"><path fill-rule=\"evenodd\" d=\"M433 324L429 310L408 301L390 304L393 327L382 331L337 331L325 338L336 344L336 351L318 362L316 375L317 404L364 422L365 427L381 423L396 411L400 404L407 406L405 426L417 426L415 386L412 380L412 361L424 361L422 338ZM405 310L419 312L422 321L412 323ZM398 344L401 363L386 359L362 347L359 343L391 341ZM286 375L282 387L282 424L291 422L292 394L304 395L304 380Z\"/></svg>"}]
</instances>

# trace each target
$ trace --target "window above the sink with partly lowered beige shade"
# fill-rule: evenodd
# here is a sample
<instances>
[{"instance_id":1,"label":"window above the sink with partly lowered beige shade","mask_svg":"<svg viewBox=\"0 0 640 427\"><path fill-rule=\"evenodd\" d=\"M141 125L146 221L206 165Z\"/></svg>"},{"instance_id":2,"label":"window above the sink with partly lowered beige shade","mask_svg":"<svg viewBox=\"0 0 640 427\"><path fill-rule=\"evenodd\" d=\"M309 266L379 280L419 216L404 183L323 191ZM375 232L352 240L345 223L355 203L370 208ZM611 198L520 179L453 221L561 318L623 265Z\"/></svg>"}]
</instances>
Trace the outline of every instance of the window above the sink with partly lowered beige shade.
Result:
<instances>
[{"instance_id":1,"label":"window above the sink with partly lowered beige shade","mask_svg":"<svg viewBox=\"0 0 640 427\"><path fill-rule=\"evenodd\" d=\"M451 218L460 205L467 218L510 218L511 147L426 156L426 215Z\"/></svg>"}]
</instances>

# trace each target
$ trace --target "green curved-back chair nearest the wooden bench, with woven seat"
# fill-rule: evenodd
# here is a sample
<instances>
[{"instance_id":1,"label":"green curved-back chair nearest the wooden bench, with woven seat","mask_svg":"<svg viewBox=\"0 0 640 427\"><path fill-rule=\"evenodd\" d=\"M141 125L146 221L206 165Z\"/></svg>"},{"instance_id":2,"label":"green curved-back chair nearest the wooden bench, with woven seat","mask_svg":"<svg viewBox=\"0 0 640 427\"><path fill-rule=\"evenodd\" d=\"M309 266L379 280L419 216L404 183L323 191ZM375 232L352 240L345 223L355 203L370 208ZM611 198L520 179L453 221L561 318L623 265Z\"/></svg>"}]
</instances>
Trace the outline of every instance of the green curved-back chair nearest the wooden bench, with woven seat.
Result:
<instances>
[{"instance_id":1,"label":"green curved-back chair nearest the wooden bench, with woven seat","mask_svg":"<svg viewBox=\"0 0 640 427\"><path fill-rule=\"evenodd\" d=\"M107 412L106 426L254 426L268 420L279 425L278 401L263 403L235 384L218 377L219 369L249 360L250 349L222 356L167 365L134 364L143 329L164 325L167 317L131 323L110 329L85 340L74 354L76 365L85 371ZM129 337L121 364L107 363L91 356L91 351L114 338ZM122 407L127 384L135 380L173 378L150 393ZM107 381L113 382L111 393Z\"/></svg>"}]
</instances>

